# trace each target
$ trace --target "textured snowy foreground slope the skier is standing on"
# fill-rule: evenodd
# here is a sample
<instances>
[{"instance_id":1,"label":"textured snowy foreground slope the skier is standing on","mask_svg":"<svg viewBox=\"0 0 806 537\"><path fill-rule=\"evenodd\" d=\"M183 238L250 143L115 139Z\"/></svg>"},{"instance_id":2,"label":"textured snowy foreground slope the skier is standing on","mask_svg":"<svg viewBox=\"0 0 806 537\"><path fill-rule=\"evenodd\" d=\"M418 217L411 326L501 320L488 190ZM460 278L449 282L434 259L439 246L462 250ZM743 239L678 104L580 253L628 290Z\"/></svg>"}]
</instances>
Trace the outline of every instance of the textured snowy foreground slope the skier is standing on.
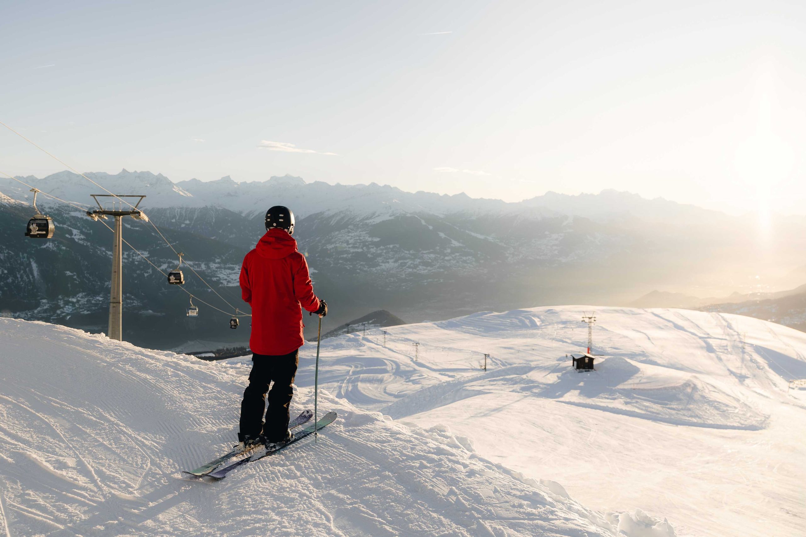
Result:
<instances>
[{"instance_id":1,"label":"textured snowy foreground slope the skier is standing on","mask_svg":"<svg viewBox=\"0 0 806 537\"><path fill-rule=\"evenodd\" d=\"M638 510L588 510L443 426L409 428L326 393L339 420L317 444L218 483L184 481L179 470L234 440L247 366L10 319L0 349L6 535L674 535ZM311 399L298 390L293 410Z\"/></svg>"}]
</instances>

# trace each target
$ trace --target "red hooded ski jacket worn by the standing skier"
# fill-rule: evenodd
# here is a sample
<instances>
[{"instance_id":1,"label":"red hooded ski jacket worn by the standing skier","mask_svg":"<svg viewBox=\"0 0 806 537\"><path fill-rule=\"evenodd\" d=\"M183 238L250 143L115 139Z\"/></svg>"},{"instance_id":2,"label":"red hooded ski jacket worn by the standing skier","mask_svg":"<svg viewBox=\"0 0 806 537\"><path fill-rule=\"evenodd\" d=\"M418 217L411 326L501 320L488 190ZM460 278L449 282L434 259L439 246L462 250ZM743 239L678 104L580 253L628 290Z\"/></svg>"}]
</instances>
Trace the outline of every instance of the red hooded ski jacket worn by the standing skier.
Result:
<instances>
[{"instance_id":1,"label":"red hooded ski jacket worn by the standing skier","mask_svg":"<svg viewBox=\"0 0 806 537\"><path fill-rule=\"evenodd\" d=\"M285 229L269 229L243 258L241 295L251 305L249 347L258 354L288 354L305 344L302 308L319 309L308 262Z\"/></svg>"}]
</instances>

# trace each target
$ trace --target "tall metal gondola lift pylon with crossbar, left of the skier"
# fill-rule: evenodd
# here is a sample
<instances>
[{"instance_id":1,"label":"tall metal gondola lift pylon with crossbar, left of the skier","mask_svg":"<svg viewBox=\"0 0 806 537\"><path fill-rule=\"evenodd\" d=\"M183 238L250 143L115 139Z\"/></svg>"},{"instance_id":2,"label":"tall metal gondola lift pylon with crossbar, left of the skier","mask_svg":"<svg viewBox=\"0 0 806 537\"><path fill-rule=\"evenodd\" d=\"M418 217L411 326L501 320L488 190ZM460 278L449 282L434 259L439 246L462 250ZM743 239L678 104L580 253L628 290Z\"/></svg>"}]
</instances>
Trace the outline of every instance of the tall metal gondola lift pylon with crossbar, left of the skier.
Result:
<instances>
[{"instance_id":1,"label":"tall metal gondola lift pylon with crossbar, left of the skier","mask_svg":"<svg viewBox=\"0 0 806 537\"><path fill-rule=\"evenodd\" d=\"M109 336L110 339L123 341L123 217L132 217L137 220L148 221L146 213L137 209L145 196L114 196L112 194L91 194L93 200L98 204L98 209L87 211L87 216L93 220L98 218L114 217L114 248L112 249L112 288L109 297ZM99 197L111 197L121 200L121 198L139 198L137 203L131 205L131 210L123 207L123 200L106 209L98 200Z\"/></svg>"}]
</instances>

